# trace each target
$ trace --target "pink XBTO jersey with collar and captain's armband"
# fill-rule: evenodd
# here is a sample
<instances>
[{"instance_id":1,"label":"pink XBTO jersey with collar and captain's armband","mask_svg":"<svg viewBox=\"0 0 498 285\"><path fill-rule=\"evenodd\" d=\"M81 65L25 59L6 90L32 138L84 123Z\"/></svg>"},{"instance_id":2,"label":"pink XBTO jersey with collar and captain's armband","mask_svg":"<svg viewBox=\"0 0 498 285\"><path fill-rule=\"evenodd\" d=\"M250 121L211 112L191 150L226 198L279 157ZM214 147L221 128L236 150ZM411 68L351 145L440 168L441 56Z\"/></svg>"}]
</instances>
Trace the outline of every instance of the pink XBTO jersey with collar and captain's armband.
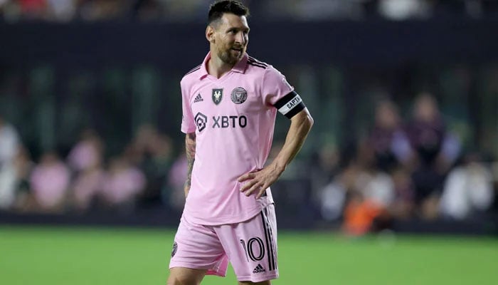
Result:
<instances>
[{"instance_id":1,"label":"pink XBTO jersey with collar and captain's armband","mask_svg":"<svg viewBox=\"0 0 498 285\"><path fill-rule=\"evenodd\" d=\"M240 175L260 170L272 145L277 110L291 118L304 104L285 76L247 54L216 78L206 62L181 80L181 131L196 133L196 156L184 216L197 224L243 222L273 202L240 192Z\"/></svg>"}]
</instances>

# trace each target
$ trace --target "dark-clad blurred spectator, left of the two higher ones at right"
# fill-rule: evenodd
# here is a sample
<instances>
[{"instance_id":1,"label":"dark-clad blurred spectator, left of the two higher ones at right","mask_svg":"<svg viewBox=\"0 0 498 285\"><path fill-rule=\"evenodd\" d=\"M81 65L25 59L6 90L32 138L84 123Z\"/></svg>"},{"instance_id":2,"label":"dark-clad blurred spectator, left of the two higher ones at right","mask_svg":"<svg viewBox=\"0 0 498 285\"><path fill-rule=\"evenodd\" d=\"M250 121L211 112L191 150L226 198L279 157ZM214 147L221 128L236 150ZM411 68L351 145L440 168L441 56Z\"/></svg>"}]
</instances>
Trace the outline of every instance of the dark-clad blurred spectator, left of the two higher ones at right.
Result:
<instances>
[{"instance_id":1,"label":"dark-clad blurred spectator, left of the two higher ones at right","mask_svg":"<svg viewBox=\"0 0 498 285\"><path fill-rule=\"evenodd\" d=\"M397 165L408 165L413 150L401 126L398 108L390 100L382 100L375 110L375 125L368 143L373 147L376 167L389 172Z\"/></svg>"}]
</instances>

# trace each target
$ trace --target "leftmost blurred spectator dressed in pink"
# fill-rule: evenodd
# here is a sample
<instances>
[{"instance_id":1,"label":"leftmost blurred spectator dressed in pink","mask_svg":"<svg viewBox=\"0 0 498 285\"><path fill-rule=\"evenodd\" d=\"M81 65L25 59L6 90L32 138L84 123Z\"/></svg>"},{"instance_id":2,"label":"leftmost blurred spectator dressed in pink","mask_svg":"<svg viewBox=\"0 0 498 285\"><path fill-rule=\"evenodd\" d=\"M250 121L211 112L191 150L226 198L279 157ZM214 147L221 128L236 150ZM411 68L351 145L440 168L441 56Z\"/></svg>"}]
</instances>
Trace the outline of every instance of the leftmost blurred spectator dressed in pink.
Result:
<instances>
[{"instance_id":1,"label":"leftmost blurred spectator dressed in pink","mask_svg":"<svg viewBox=\"0 0 498 285\"><path fill-rule=\"evenodd\" d=\"M34 167L30 184L35 210L61 212L65 207L70 183L68 167L55 152L46 152Z\"/></svg>"}]
</instances>

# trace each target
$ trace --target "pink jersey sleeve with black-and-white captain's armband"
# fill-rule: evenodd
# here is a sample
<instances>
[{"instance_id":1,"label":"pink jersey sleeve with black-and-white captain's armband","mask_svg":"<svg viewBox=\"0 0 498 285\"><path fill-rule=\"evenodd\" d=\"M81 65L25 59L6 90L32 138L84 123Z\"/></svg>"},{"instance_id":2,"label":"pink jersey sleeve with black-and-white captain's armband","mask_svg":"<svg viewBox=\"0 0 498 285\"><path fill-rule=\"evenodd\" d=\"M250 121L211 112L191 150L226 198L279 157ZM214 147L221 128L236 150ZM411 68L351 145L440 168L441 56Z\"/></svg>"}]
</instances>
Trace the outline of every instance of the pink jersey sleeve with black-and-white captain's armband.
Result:
<instances>
[{"instance_id":1,"label":"pink jersey sleeve with black-and-white captain's armband","mask_svg":"<svg viewBox=\"0 0 498 285\"><path fill-rule=\"evenodd\" d=\"M274 106L287 118L292 118L306 108L301 96L273 66L268 66L263 77L263 96L265 103Z\"/></svg>"}]
</instances>

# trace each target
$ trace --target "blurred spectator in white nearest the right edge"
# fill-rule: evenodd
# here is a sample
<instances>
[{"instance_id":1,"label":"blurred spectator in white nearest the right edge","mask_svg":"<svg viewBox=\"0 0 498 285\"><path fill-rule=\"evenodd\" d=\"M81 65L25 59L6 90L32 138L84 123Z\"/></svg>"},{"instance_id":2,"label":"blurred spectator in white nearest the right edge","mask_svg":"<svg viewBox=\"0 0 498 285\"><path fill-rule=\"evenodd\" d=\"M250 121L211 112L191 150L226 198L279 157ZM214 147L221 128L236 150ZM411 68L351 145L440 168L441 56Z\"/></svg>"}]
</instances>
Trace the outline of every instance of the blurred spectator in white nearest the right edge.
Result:
<instances>
[{"instance_id":1,"label":"blurred spectator in white nearest the right edge","mask_svg":"<svg viewBox=\"0 0 498 285\"><path fill-rule=\"evenodd\" d=\"M447 176L440 212L444 217L465 219L479 217L494 199L491 171L479 155L465 156L462 165L455 167Z\"/></svg>"}]
</instances>

